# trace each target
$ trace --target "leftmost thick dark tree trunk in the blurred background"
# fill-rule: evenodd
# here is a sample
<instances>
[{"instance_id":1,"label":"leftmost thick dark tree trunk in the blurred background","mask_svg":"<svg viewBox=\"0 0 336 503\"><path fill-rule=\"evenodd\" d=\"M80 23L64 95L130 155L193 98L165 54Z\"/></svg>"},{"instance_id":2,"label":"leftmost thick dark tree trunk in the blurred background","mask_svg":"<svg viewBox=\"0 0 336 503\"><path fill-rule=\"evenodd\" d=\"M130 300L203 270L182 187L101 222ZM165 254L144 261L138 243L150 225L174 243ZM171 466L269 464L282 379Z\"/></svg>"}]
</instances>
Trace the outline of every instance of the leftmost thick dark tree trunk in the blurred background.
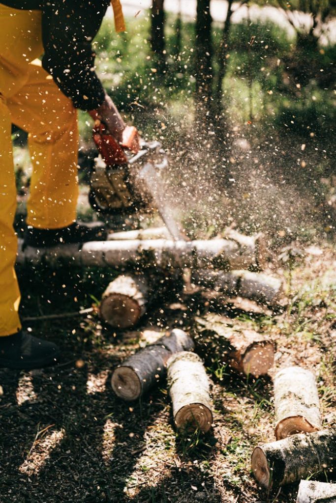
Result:
<instances>
[{"instance_id":1,"label":"leftmost thick dark tree trunk in the blurred background","mask_svg":"<svg viewBox=\"0 0 336 503\"><path fill-rule=\"evenodd\" d=\"M151 23L151 46L156 55L157 67L159 71L165 69L165 12L164 0L153 0L152 3L152 23Z\"/></svg>"}]
</instances>

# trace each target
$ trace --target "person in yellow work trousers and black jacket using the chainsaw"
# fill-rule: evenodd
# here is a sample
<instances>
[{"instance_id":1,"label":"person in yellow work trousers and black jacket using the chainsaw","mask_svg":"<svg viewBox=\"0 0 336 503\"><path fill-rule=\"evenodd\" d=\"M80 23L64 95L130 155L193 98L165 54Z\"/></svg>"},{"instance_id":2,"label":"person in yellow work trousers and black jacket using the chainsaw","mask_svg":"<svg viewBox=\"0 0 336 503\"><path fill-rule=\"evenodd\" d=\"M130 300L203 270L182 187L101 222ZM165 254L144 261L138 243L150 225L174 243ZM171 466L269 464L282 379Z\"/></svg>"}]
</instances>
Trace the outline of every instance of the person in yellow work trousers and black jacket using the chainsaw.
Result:
<instances>
[{"instance_id":1,"label":"person in yellow work trousers and black jacket using the chainsaw","mask_svg":"<svg viewBox=\"0 0 336 503\"><path fill-rule=\"evenodd\" d=\"M76 222L77 109L122 140L125 123L94 69L92 40L109 0L0 0L0 366L32 369L59 359L58 347L23 331L14 270L16 186L11 125L28 132L33 165L25 244L103 239ZM112 0L117 31L124 30ZM39 58L42 56L41 61Z\"/></svg>"}]
</instances>

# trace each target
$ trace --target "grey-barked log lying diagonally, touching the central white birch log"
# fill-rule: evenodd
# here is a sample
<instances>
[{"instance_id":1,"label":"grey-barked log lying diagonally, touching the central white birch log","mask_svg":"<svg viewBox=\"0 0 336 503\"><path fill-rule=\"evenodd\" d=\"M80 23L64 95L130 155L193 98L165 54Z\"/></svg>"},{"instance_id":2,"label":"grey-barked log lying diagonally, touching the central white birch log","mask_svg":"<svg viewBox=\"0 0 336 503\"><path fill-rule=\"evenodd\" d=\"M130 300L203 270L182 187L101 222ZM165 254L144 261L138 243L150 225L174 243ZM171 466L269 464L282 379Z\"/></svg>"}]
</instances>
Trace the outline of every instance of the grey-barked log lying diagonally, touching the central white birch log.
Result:
<instances>
[{"instance_id":1,"label":"grey-barked log lying diagonally, touching the central white birch log","mask_svg":"<svg viewBox=\"0 0 336 503\"><path fill-rule=\"evenodd\" d=\"M127 358L114 370L111 378L114 393L124 400L137 400L165 375L167 361L172 355L191 349L192 339L175 328L169 336L161 337L155 344Z\"/></svg>"}]
</instances>

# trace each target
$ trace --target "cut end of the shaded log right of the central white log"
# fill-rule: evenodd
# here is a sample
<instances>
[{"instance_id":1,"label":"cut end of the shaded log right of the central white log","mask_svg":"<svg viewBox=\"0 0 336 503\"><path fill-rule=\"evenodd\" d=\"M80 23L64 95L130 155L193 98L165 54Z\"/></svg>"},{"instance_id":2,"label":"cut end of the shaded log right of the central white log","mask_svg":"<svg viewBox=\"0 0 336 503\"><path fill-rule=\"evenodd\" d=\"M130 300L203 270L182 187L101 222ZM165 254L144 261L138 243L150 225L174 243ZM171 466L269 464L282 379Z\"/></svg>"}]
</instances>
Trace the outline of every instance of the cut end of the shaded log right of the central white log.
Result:
<instances>
[{"instance_id":1,"label":"cut end of the shaded log right of the central white log","mask_svg":"<svg viewBox=\"0 0 336 503\"><path fill-rule=\"evenodd\" d=\"M275 345L272 342L252 344L243 358L243 372L259 377L267 374L274 364Z\"/></svg>"}]
</instances>

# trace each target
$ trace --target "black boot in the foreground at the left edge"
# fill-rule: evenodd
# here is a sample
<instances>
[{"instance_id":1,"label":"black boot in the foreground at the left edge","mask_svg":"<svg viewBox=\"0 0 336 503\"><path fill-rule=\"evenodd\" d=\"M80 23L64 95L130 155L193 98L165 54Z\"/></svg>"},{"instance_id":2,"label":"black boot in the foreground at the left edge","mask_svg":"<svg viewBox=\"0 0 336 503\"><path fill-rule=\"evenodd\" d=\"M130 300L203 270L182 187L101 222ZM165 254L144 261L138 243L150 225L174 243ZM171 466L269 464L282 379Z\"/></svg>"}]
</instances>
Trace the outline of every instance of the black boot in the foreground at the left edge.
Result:
<instances>
[{"instance_id":1,"label":"black boot in the foreground at the left edge","mask_svg":"<svg viewBox=\"0 0 336 503\"><path fill-rule=\"evenodd\" d=\"M27 332L0 337L0 367L31 370L55 365L58 347Z\"/></svg>"}]
</instances>

